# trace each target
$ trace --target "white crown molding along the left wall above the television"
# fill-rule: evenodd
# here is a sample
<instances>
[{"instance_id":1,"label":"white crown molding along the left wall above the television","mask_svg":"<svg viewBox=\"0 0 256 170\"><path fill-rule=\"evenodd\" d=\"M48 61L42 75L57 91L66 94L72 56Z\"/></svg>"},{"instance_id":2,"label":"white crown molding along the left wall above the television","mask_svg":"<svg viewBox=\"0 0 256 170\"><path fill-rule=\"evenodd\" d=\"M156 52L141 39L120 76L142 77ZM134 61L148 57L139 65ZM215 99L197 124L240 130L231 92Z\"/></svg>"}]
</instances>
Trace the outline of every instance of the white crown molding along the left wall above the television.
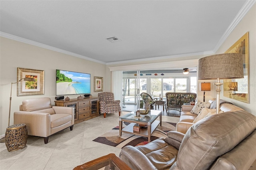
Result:
<instances>
[{"instance_id":1,"label":"white crown molding along the left wall above the television","mask_svg":"<svg viewBox=\"0 0 256 170\"><path fill-rule=\"evenodd\" d=\"M0 36L4 37L4 38L9 38L11 40L15 40L15 41L18 41L18 42L23 42L23 43L27 43L27 44L30 44L30 45L35 45L37 47L42 47L42 48L45 48L45 49L50 49L52 51L57 51L57 52L60 52L60 53L64 53L64 54L67 54L67 55L72 55L74 57L78 57L78 58L82 58L82 59L86 59L86 60L89 60L89 61L94 61L96 63L101 63L101 64L106 65L106 62L103 62L103 61L99 61L99 60L92 59L90 57L86 57L86 56L83 56L83 55L80 55L80 54L76 54L76 53L72 53L72 52L69 52L69 51L66 51L66 50L63 50L63 49L52 47L50 45L45 45L43 43L34 42L32 40L28 40L28 39L25 39L25 38L14 36L12 34L7 34L5 32L0 32Z\"/></svg>"}]
</instances>

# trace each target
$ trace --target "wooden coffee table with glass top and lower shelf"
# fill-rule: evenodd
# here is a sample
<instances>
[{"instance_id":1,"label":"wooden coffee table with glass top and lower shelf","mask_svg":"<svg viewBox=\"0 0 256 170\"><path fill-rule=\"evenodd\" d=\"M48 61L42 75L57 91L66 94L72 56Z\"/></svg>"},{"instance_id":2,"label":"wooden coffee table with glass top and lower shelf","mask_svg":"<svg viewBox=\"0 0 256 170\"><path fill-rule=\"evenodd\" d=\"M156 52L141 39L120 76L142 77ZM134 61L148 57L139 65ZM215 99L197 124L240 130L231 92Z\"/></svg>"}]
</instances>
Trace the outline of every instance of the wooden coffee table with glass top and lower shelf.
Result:
<instances>
[{"instance_id":1,"label":"wooden coffee table with glass top and lower shelf","mask_svg":"<svg viewBox=\"0 0 256 170\"><path fill-rule=\"evenodd\" d=\"M159 117L160 121L156 120ZM122 128L124 122L130 122L129 125ZM138 123L141 126L139 132L133 131L133 126ZM156 127L160 124L162 126L162 111L154 111L151 110L147 115L140 115L140 117L136 117L134 112L128 113L122 117L119 117L119 136L122 136L122 132L135 134L139 136L148 137L148 142L150 142L151 134L156 130Z\"/></svg>"}]
</instances>

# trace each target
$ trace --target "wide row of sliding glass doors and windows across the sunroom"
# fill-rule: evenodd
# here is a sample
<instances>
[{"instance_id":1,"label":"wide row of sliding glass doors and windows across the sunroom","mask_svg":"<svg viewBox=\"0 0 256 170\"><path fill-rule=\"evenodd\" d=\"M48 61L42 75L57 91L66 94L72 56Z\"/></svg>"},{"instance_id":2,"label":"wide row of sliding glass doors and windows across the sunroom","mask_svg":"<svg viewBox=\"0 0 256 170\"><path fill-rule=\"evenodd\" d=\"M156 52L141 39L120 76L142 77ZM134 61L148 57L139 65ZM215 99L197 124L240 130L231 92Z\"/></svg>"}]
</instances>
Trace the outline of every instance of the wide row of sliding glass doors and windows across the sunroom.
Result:
<instances>
[{"instance_id":1,"label":"wide row of sliding glass doors and windows across the sunroom","mask_svg":"<svg viewBox=\"0 0 256 170\"><path fill-rule=\"evenodd\" d=\"M159 100L161 97L166 100L167 92L196 92L196 85L197 77L169 77L128 71L123 74L123 104L138 105L141 93L148 93L153 99Z\"/></svg>"}]
</instances>

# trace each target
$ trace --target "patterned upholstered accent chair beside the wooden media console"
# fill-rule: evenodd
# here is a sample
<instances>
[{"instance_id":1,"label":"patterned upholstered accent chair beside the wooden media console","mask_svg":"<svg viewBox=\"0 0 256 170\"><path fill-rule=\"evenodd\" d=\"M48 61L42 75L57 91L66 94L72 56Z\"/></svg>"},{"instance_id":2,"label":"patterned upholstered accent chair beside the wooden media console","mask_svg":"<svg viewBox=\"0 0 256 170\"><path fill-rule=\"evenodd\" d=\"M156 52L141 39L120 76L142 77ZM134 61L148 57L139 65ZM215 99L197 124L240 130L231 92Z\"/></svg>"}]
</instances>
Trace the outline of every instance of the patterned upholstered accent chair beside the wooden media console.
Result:
<instances>
[{"instance_id":1,"label":"patterned upholstered accent chair beside the wooden media console","mask_svg":"<svg viewBox=\"0 0 256 170\"><path fill-rule=\"evenodd\" d=\"M104 118L106 118L106 113L121 113L120 100L114 99L114 93L111 92L103 92L98 93L98 97L100 98L100 113L104 114Z\"/></svg>"}]
</instances>

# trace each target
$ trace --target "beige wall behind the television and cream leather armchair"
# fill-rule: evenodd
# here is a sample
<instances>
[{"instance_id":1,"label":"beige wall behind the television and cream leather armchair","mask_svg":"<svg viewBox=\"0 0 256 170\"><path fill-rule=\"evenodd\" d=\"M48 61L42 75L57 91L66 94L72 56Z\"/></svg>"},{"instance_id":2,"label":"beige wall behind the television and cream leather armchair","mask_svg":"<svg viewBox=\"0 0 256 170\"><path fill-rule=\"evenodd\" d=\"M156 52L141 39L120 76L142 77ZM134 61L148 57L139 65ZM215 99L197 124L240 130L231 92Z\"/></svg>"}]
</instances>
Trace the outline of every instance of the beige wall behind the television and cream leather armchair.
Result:
<instances>
[{"instance_id":1,"label":"beige wall behind the television and cream leather armchair","mask_svg":"<svg viewBox=\"0 0 256 170\"><path fill-rule=\"evenodd\" d=\"M106 65L88 61L64 53L59 53L42 47L0 37L0 135L8 126L11 82L17 81L17 67L44 70L44 95L17 96L16 84L12 85L12 108L10 125L13 125L13 113L19 110L24 99L50 97L52 105L56 97L56 69L77 71L91 74L91 94L94 93L94 76L103 77L104 91L110 91L110 85L105 83ZM79 95L66 95L77 98Z\"/></svg>"}]
</instances>

